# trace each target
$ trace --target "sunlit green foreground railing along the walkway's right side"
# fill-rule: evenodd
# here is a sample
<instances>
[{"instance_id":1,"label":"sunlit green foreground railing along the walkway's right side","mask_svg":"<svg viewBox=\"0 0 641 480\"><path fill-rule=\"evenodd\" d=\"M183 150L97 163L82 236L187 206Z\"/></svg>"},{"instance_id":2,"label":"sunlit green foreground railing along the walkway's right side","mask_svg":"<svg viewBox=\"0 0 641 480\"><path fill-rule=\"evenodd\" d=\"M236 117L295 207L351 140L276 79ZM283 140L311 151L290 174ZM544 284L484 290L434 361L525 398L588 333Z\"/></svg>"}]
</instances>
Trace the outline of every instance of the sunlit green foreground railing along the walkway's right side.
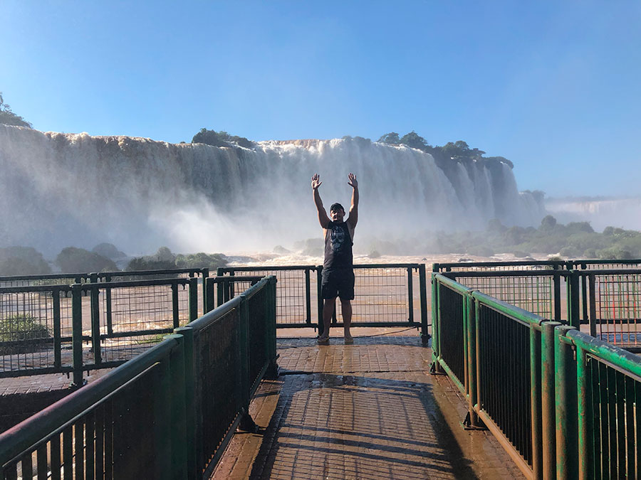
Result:
<instances>
[{"instance_id":1,"label":"sunlit green foreground railing along the walkway's right side","mask_svg":"<svg viewBox=\"0 0 641 480\"><path fill-rule=\"evenodd\" d=\"M638 476L640 358L442 274L432 292L432 371L465 395L468 427L491 430L528 478Z\"/></svg>"}]
</instances>

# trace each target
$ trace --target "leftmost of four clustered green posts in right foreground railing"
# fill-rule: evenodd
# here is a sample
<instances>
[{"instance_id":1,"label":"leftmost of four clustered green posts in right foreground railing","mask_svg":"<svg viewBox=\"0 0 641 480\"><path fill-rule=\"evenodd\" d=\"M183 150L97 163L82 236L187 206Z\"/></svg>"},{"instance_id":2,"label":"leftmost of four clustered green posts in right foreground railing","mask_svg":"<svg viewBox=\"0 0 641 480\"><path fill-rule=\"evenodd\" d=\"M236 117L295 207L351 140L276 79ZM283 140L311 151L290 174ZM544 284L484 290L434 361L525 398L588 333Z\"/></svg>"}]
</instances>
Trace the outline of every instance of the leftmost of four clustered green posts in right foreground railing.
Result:
<instances>
[{"instance_id":1,"label":"leftmost of four clustered green posts in right foreground railing","mask_svg":"<svg viewBox=\"0 0 641 480\"><path fill-rule=\"evenodd\" d=\"M541 331L530 324L530 385L532 405L532 473L543 478L543 425L541 415Z\"/></svg>"}]
</instances>

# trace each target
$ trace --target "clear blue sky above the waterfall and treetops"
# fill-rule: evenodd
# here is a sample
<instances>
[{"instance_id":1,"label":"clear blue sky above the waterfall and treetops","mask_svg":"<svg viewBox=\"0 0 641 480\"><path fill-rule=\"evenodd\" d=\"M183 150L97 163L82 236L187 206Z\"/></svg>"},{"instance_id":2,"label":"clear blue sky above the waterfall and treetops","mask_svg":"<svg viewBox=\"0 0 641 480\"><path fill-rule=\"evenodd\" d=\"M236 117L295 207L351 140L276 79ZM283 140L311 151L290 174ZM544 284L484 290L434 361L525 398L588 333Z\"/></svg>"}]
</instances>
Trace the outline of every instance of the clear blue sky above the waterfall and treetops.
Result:
<instances>
[{"instance_id":1,"label":"clear blue sky above the waterfall and treetops","mask_svg":"<svg viewBox=\"0 0 641 480\"><path fill-rule=\"evenodd\" d=\"M43 131L189 142L415 130L521 189L641 186L641 1L0 1L0 92Z\"/></svg>"}]
</instances>

